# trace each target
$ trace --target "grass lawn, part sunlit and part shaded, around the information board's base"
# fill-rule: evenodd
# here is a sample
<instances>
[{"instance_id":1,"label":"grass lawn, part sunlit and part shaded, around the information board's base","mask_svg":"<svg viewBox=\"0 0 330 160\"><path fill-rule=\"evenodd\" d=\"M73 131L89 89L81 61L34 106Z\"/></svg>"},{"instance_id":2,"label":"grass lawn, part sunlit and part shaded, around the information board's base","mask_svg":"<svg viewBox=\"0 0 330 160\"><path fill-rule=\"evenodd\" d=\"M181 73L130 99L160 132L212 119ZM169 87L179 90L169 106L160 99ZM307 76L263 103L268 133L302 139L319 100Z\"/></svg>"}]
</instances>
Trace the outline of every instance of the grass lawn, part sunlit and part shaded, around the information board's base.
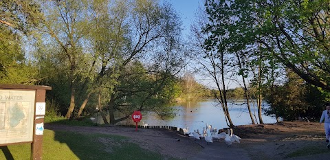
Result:
<instances>
[{"instance_id":1,"label":"grass lawn, part sunlit and part shaded, around the information board's base","mask_svg":"<svg viewBox=\"0 0 330 160\"><path fill-rule=\"evenodd\" d=\"M30 144L4 147L0 159L30 159ZM43 159L162 159L162 155L140 148L129 137L80 134L45 130ZM9 158L11 159L11 158Z\"/></svg>"}]
</instances>

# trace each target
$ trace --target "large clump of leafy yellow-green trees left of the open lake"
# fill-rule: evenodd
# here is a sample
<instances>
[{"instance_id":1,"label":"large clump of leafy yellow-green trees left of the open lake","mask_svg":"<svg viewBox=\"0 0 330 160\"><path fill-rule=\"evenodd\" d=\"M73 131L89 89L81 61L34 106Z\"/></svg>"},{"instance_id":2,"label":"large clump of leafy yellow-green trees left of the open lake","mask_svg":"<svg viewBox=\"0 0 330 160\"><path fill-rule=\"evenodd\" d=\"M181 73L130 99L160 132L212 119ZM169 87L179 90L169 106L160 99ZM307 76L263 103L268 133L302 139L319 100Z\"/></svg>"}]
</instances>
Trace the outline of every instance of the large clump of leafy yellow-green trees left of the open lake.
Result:
<instances>
[{"instance_id":1,"label":"large clump of leafy yellow-green trees left of the open lake","mask_svg":"<svg viewBox=\"0 0 330 160\"><path fill-rule=\"evenodd\" d=\"M40 3L47 34L36 58L41 73L49 75L41 83L53 87L47 96L65 117L78 118L98 107L115 123L114 111L129 117L136 109L168 102L172 95L162 89L174 91L170 79L183 62L181 22L171 5L145 0Z\"/></svg>"}]
</instances>

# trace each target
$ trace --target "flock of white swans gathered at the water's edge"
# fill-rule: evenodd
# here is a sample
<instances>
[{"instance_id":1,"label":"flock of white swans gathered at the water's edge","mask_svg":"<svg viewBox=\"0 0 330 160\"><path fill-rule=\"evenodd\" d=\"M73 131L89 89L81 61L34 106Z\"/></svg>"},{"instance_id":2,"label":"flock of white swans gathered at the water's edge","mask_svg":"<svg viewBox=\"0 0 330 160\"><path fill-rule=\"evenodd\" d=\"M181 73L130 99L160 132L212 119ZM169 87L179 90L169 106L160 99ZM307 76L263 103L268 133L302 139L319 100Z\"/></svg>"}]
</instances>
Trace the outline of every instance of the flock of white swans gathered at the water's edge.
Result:
<instances>
[{"instance_id":1,"label":"flock of white swans gathered at the water's edge","mask_svg":"<svg viewBox=\"0 0 330 160\"><path fill-rule=\"evenodd\" d=\"M184 135L188 134L190 135L189 132L189 128L183 128L182 130L184 130ZM208 133L209 130L209 133ZM220 130L219 130L220 131ZM204 138L206 141L206 144L208 143L213 143L213 139L220 141L220 139L224 139L225 140L225 144L227 144L228 146L232 145L233 142L237 142L240 143L240 139L241 137L234 135L232 133L232 128L228 128L227 129L227 133L225 132L217 132L217 128L212 128L212 125L208 125L206 124L206 127L203 128L203 132L199 133L199 130L194 130L194 132L192 133L193 137L195 138L195 140Z\"/></svg>"}]
</instances>

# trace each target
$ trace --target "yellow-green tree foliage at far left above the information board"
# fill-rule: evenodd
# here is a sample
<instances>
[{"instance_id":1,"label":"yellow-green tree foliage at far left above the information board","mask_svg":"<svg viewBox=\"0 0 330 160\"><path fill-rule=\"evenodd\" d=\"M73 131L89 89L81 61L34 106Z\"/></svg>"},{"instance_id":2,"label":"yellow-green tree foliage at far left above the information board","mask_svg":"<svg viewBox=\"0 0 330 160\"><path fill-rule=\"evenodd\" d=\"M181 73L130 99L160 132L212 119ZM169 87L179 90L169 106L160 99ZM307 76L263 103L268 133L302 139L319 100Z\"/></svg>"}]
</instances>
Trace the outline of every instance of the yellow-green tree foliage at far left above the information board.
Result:
<instances>
[{"instance_id":1,"label":"yellow-green tree foliage at far left above the information board","mask_svg":"<svg viewBox=\"0 0 330 160\"><path fill-rule=\"evenodd\" d=\"M25 58L22 39L39 27L39 5L5 0L0 2L0 10L0 83L35 84L37 70Z\"/></svg>"}]
</instances>

